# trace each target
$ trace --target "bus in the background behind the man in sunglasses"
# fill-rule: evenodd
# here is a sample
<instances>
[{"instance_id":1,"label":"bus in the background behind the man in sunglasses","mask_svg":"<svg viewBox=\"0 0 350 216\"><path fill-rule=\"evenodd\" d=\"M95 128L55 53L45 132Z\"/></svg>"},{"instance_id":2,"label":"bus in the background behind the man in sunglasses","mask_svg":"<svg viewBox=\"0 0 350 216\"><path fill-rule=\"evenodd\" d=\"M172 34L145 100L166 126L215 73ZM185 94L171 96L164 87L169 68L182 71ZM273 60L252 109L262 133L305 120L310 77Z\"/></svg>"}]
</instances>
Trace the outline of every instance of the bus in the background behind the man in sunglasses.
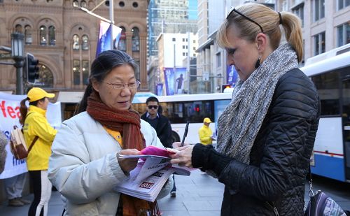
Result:
<instances>
[{"instance_id":1,"label":"bus in the background behind the man in sunglasses","mask_svg":"<svg viewBox=\"0 0 350 216\"><path fill-rule=\"evenodd\" d=\"M216 132L216 122L223 110L231 101L232 92L212 94L176 94L171 96L156 96L162 106L162 114L169 118L172 124L172 141L182 141L187 121L188 135L186 143L200 143L198 130L203 126L204 117L209 117L213 123L209 125ZM146 112L145 97L135 97L132 107L141 115Z\"/></svg>"}]
</instances>

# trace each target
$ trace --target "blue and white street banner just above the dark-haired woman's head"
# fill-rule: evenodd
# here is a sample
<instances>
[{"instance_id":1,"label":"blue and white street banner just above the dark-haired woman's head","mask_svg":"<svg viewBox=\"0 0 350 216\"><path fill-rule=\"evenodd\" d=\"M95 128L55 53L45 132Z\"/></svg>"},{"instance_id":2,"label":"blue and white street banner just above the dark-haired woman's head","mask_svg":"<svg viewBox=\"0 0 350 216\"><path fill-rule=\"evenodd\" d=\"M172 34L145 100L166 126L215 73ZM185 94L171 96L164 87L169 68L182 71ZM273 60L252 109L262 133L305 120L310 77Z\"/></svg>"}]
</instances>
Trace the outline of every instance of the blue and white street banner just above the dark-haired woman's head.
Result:
<instances>
[{"instance_id":1,"label":"blue and white street banner just above the dark-haired woman's head","mask_svg":"<svg viewBox=\"0 0 350 216\"><path fill-rule=\"evenodd\" d=\"M109 24L109 22L101 21L99 23L99 41L97 42L96 57L99 53L106 50L111 50L111 29L113 27L113 42L114 48L117 47L119 43L120 34L122 29L115 25Z\"/></svg>"}]
</instances>

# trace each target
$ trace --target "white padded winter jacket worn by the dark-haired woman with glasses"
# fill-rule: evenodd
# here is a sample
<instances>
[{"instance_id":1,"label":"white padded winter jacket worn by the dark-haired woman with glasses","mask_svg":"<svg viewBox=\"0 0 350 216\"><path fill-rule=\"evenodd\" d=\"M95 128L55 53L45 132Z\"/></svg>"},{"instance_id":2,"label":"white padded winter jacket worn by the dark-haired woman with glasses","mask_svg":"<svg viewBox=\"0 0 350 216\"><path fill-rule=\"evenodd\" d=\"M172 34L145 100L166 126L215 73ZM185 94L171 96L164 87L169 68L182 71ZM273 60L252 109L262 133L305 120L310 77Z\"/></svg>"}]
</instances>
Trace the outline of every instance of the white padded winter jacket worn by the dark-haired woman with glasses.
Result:
<instances>
[{"instance_id":1,"label":"white padded winter jacket worn by the dark-haired woman with glasses","mask_svg":"<svg viewBox=\"0 0 350 216\"><path fill-rule=\"evenodd\" d=\"M146 145L162 146L150 124L141 120ZM120 193L113 187L127 176L118 164L121 147L86 112L62 123L49 161L48 178L62 194L65 215L116 215ZM169 194L172 178L158 198Z\"/></svg>"}]
</instances>

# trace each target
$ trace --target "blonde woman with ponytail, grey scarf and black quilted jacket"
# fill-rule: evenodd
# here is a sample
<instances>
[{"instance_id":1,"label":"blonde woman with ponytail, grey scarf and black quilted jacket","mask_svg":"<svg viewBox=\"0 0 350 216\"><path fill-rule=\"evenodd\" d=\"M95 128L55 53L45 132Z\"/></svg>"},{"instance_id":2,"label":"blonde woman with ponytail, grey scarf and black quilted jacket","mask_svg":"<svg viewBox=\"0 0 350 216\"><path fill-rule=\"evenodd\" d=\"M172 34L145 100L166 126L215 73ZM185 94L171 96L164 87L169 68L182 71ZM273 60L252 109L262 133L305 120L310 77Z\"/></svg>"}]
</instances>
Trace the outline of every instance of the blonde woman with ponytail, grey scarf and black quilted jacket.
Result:
<instances>
[{"instance_id":1,"label":"blonde woman with ponytail, grey scarf and black quilted jacket","mask_svg":"<svg viewBox=\"0 0 350 216\"><path fill-rule=\"evenodd\" d=\"M297 69L300 19L246 3L230 11L216 39L240 79L218 118L216 149L186 145L172 163L202 167L225 185L221 215L304 215L320 103L313 82Z\"/></svg>"}]
</instances>

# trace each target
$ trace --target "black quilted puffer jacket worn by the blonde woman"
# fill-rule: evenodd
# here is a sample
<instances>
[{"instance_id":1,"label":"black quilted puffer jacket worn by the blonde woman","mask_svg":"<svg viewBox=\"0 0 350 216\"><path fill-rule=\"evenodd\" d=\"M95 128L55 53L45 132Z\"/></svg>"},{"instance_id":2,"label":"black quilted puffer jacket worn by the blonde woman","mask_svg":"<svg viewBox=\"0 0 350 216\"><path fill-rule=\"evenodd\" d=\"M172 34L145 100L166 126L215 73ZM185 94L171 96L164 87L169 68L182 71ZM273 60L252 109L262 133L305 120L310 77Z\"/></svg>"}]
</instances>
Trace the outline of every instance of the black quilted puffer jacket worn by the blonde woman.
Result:
<instances>
[{"instance_id":1,"label":"black quilted puffer jacket worn by the blonde woman","mask_svg":"<svg viewBox=\"0 0 350 216\"><path fill-rule=\"evenodd\" d=\"M318 128L314 84L294 69L277 82L271 105L251 150L251 164L195 145L194 167L210 169L225 184L221 215L302 215L304 182Z\"/></svg>"}]
</instances>

